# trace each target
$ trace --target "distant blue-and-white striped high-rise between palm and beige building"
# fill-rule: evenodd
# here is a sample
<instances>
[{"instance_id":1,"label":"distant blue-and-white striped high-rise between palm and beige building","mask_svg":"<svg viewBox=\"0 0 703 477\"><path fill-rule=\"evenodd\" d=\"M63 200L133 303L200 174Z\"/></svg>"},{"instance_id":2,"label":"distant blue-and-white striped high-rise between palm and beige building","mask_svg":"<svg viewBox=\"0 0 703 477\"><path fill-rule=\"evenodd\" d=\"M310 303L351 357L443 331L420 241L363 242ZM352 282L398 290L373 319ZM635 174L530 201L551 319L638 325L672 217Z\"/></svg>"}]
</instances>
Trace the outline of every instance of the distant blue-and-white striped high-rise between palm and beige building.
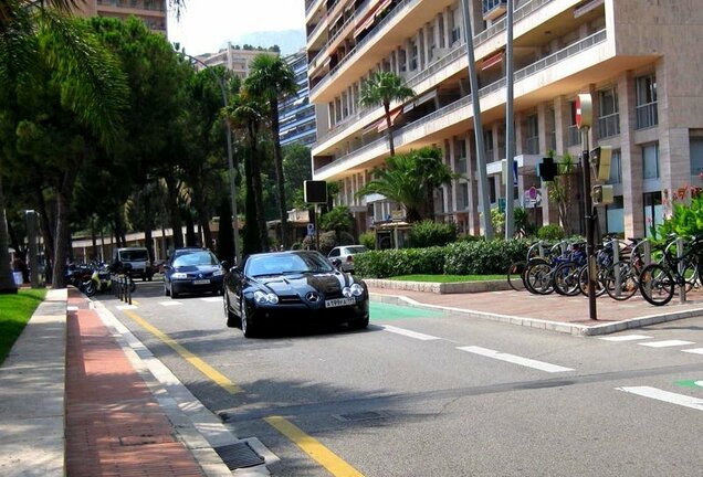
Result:
<instances>
[{"instance_id":1,"label":"distant blue-and-white striped high-rise between palm and beige building","mask_svg":"<svg viewBox=\"0 0 703 477\"><path fill-rule=\"evenodd\" d=\"M307 87L307 55L305 50L283 59L295 74L297 94L281 102L279 137L281 146L300 144L312 146L316 140L315 106L309 103Z\"/></svg>"}]
</instances>

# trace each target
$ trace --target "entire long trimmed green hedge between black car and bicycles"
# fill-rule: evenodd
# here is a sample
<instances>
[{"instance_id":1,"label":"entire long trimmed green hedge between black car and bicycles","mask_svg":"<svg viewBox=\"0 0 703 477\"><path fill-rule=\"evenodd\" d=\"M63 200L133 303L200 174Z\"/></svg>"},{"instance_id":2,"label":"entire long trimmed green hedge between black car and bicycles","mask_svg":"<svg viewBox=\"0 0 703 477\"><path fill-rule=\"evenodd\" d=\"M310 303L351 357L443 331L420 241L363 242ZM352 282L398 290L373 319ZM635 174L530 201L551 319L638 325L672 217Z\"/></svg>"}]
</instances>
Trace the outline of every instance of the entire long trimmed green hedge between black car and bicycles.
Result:
<instances>
[{"instance_id":1,"label":"entire long trimmed green hedge between black car and bicycles","mask_svg":"<svg viewBox=\"0 0 703 477\"><path fill-rule=\"evenodd\" d=\"M525 259L524 240L455 242L443 247L371 251L354 257L356 274L366 278L398 275L487 275L505 273Z\"/></svg>"}]
</instances>

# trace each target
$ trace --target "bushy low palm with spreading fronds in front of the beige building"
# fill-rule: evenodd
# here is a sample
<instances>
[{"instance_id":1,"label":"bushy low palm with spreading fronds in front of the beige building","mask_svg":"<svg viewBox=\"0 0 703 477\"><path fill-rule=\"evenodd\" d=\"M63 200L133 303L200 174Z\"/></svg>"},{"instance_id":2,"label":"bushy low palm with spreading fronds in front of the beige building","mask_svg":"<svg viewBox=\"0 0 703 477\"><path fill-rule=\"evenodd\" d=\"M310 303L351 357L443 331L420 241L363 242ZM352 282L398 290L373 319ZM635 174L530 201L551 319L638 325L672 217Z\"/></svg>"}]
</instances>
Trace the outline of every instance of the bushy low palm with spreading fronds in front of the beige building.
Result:
<instances>
[{"instance_id":1,"label":"bushy low palm with spreading fronds in front of the beige building","mask_svg":"<svg viewBox=\"0 0 703 477\"><path fill-rule=\"evenodd\" d=\"M434 189L455 177L441 161L441 155L440 149L428 147L391 156L386 159L385 168L374 171L375 179L367 182L357 195L386 195L405 206L408 222L417 222L431 214L428 201Z\"/></svg>"}]
</instances>

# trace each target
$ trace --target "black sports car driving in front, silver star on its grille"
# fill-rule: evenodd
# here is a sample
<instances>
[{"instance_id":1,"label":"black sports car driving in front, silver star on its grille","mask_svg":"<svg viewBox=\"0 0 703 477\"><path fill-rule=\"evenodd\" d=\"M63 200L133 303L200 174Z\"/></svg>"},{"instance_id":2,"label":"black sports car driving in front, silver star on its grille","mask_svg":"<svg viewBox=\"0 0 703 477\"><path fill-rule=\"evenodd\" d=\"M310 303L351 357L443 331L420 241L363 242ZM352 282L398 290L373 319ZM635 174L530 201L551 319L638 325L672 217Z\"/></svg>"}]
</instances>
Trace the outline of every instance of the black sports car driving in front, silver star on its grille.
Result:
<instances>
[{"instance_id":1,"label":"black sports car driving in front, silver star on its grille","mask_svg":"<svg viewBox=\"0 0 703 477\"><path fill-rule=\"evenodd\" d=\"M224 277L227 326L250 338L264 325L318 319L368 326L368 289L319 252L254 254Z\"/></svg>"}]
</instances>

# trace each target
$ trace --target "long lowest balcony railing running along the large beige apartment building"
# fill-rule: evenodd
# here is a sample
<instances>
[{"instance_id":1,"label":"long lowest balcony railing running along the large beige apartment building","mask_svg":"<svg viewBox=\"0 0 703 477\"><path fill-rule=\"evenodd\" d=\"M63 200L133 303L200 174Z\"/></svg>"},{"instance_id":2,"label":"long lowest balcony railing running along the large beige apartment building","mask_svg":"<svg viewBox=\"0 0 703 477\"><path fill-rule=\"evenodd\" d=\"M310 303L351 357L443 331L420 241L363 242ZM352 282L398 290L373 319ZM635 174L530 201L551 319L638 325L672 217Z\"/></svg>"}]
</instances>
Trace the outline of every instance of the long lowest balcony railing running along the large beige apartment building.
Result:
<instances>
[{"instance_id":1,"label":"long lowest balcony railing running along the large beige apartment building","mask_svg":"<svg viewBox=\"0 0 703 477\"><path fill-rule=\"evenodd\" d=\"M534 75L534 74L536 74L536 73L538 73L538 72L541 72L543 70L546 70L547 67L554 65L555 63L557 63L559 61L566 60L569 56L574 56L576 54L579 54L583 51L585 51L585 50L587 50L587 49L589 49L591 46L595 46L595 45L606 41L606 39L607 39L606 30L601 30L599 32L596 32L592 35L585 38L584 40L581 40L578 43L574 43L574 44L565 47L564 50L559 50L558 52L556 52L556 53L554 53L554 54L552 54L549 56L546 56L546 57L544 57L544 59L542 59L542 60L539 60L539 61L537 61L537 62L535 62L535 63L533 63L533 64L531 64L531 65L528 65L528 66L526 66L526 67L524 67L522 70L516 71L515 74L514 74L515 82L524 80L524 78L526 78L526 77L528 77L531 75ZM490 85L484 86L483 88L479 89L479 97L484 97L486 95L490 95L492 93L501 91L505 86L506 86L506 80L505 80L505 77L503 77L503 78L501 78L501 80L499 80L499 81L496 81L494 83L491 83ZM411 129L422 127L423 125L426 125L428 123L431 123L434 119L438 119L438 118L440 118L442 116L451 114L451 113L455 112L457 109L462 108L462 107L471 104L471 97L472 97L472 95L466 95L466 96L455 100L454 103L451 103L451 104L449 104L449 105L447 105L447 106L444 106L444 107L442 107L442 108L440 108L440 109L438 109L438 110L436 110L433 113L430 113L427 116L423 116L422 118L420 118L420 119L418 119L418 120L416 120L413 123L410 123L410 124L403 126L402 128L394 131L394 137L400 137L405 131L409 131ZM571 139L574 140L574 142L571 142ZM568 132L567 140L569 142L569 146L575 146L577 144L580 144L580 135L579 135L578 129L576 128L576 125L569 127L569 132ZM324 166L324 167L322 167L318 170L315 170L315 172L319 173L319 172L324 172L325 170L332 169L333 167L336 167L339 163L339 161L343 161L346 158L349 158L349 157L353 157L353 156L361 155L365 151L374 149L374 148L380 146L382 142L387 142L387 141L388 141L387 138L380 138L380 139L377 139L377 140L373 141L373 142L369 142L369 144L367 144L365 146L361 146L359 149L356 149L356 150L349 152L346 156L343 156L343 157L340 157L338 159L335 159L332 163L329 163L327 166ZM399 145L397 144L396 146L399 146ZM505 157L504 153L501 157Z\"/></svg>"}]
</instances>

